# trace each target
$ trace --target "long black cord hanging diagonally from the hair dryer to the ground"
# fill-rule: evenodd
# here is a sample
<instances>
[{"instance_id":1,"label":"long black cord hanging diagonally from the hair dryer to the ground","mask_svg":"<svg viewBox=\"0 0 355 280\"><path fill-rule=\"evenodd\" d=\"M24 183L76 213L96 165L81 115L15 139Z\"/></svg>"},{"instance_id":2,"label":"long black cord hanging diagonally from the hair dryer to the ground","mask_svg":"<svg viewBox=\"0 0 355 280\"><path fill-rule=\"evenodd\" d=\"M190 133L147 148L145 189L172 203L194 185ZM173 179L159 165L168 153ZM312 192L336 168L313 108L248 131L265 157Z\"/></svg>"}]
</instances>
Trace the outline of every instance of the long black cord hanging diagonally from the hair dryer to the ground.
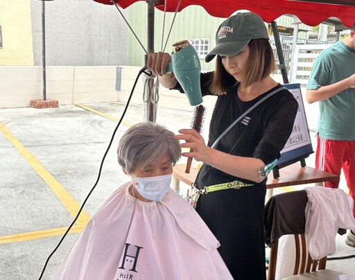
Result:
<instances>
[{"instance_id":1,"label":"long black cord hanging diagonally from the hair dryer to the ground","mask_svg":"<svg viewBox=\"0 0 355 280\"><path fill-rule=\"evenodd\" d=\"M141 70L139 70L138 72L138 75L137 75L137 78L135 80L135 83L133 84L133 87L132 87L132 91L130 92L130 96L128 97L128 100L127 100L127 104L125 105L125 109L123 110L123 113L122 113L122 116L121 116L121 119L119 119L119 123L116 125L116 128L114 129L114 132L112 134L112 137L110 139L110 143L108 144L107 146L107 149L105 151L105 154L103 155L103 159L101 160L101 164L100 164L100 168L98 169L98 177L97 177L97 180L94 184L94 186L92 187L92 189L89 191L89 194L87 195L87 197L85 198L83 204L81 205L79 211L78 211L78 214L76 214L76 217L74 218L73 222L71 222L71 225L69 225L67 231L65 231L64 235L62 236L62 238L60 239L58 245L54 248L53 252L51 252L51 254L49 255L49 257L46 259L46 263L44 263L44 267L43 267L43 270L42 270L42 273L40 275L40 278L38 280L41 280L42 277L43 277L43 274L44 274L44 271L46 270L46 266L48 265L49 263L49 259L51 259L51 256L53 256L53 254L55 253L55 251L58 250L60 244L62 244L62 241L64 240L65 236L67 236L68 232L70 231L71 227L73 227L73 225L75 224L76 220L78 220L78 217L81 213L81 211L83 211L83 208L87 202L87 200L89 199L89 196L92 194L92 192L94 191L94 189L96 188L96 185L98 184L98 180L100 179L100 176L101 176L101 171L102 171L102 168L103 168L103 162L105 161L105 158L108 154L108 151L110 150L111 148L111 145L112 145L112 142L114 140L114 135L116 134L117 130L119 129L119 125L121 125L121 122L123 120L123 117L125 116L125 112L127 112L127 109L128 109L128 105L130 104L130 99L132 98L132 95L133 95L133 91L135 91L135 87L137 85L137 82L138 82L138 79L139 79L139 76L141 76L141 73L146 73L146 75L150 76L151 74L150 73L147 73L146 72L146 69L148 69L148 67L143 67Z\"/></svg>"}]
</instances>

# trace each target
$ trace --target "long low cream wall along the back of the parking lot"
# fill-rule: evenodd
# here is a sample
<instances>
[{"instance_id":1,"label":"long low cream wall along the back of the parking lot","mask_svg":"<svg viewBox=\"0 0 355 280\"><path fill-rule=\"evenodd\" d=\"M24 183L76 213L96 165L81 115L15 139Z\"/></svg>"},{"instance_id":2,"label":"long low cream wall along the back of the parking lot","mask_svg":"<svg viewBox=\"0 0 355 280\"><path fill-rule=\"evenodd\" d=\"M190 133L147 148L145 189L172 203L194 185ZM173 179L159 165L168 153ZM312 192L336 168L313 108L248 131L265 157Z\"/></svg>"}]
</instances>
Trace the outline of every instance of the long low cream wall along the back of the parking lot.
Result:
<instances>
[{"instance_id":1,"label":"long low cream wall along the back of the parking lot","mask_svg":"<svg viewBox=\"0 0 355 280\"><path fill-rule=\"evenodd\" d=\"M59 105L126 102L140 67L122 66L121 90L116 90L116 68L47 67L46 100ZM42 67L0 67L0 108L29 107L43 99ZM144 74L137 82L131 103L143 104ZM213 106L214 98L206 101ZM193 110L184 94L159 87L159 106Z\"/></svg>"}]
</instances>

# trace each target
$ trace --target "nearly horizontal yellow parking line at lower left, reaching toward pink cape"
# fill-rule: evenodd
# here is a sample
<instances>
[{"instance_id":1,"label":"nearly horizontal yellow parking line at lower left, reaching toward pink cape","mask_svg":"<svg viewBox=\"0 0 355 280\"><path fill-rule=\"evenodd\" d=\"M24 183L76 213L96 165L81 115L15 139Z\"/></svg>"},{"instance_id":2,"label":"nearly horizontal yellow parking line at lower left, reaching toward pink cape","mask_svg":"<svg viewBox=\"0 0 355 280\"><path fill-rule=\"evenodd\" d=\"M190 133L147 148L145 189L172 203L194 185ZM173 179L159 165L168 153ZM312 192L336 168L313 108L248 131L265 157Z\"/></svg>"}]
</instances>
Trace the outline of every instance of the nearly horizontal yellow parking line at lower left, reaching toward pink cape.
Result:
<instances>
[{"instance_id":1,"label":"nearly horizontal yellow parking line at lower left, reaching toward pink cape","mask_svg":"<svg viewBox=\"0 0 355 280\"><path fill-rule=\"evenodd\" d=\"M69 232L77 233L80 232L84 227L85 225L74 225ZM46 238L50 236L61 236L64 234L65 231L67 231L67 229L68 229L67 227L59 227L57 229L44 229L39 231L24 232L21 234L0 236L0 244L35 240L35 239Z\"/></svg>"}]
</instances>

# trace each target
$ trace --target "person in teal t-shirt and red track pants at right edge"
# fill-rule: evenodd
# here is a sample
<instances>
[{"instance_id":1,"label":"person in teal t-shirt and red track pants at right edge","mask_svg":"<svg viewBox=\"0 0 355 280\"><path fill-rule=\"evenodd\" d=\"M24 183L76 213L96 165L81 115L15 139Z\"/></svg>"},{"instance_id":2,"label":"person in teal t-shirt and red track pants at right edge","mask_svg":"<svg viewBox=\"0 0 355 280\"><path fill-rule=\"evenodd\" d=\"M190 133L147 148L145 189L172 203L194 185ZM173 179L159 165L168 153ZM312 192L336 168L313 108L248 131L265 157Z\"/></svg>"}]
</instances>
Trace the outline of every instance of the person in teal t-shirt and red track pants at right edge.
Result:
<instances>
[{"instance_id":1,"label":"person in teal t-shirt and red track pants at right edge","mask_svg":"<svg viewBox=\"0 0 355 280\"><path fill-rule=\"evenodd\" d=\"M345 175L355 200L355 24L345 39L318 55L306 91L308 103L319 102L315 167ZM338 181L324 183L338 189ZM354 207L355 216L355 207ZM355 247L355 229L345 240Z\"/></svg>"}]
</instances>

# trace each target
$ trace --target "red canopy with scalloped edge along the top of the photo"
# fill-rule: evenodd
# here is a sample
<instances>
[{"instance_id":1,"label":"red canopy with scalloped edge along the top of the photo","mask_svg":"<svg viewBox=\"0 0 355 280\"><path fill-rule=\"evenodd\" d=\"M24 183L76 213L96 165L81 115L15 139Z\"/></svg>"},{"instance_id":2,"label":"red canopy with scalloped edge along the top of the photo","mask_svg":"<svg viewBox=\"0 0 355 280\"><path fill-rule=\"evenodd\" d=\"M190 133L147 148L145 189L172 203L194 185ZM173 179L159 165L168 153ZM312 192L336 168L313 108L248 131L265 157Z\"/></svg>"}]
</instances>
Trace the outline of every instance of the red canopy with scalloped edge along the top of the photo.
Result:
<instances>
[{"instance_id":1,"label":"red canopy with scalloped edge along the top of the photo","mask_svg":"<svg viewBox=\"0 0 355 280\"><path fill-rule=\"evenodd\" d=\"M112 5L110 0L94 1ZM116 0L116 3L124 9L137 1L144 0ZM168 0L166 11L175 12L177 5L178 0ZM352 0L182 0L179 11L191 5L202 6L214 17L229 17L236 10L250 10L269 23L288 14L296 15L309 26L317 26L331 17L338 18L347 27L355 23L355 3ZM164 11L164 1L159 0L155 6Z\"/></svg>"}]
</instances>

